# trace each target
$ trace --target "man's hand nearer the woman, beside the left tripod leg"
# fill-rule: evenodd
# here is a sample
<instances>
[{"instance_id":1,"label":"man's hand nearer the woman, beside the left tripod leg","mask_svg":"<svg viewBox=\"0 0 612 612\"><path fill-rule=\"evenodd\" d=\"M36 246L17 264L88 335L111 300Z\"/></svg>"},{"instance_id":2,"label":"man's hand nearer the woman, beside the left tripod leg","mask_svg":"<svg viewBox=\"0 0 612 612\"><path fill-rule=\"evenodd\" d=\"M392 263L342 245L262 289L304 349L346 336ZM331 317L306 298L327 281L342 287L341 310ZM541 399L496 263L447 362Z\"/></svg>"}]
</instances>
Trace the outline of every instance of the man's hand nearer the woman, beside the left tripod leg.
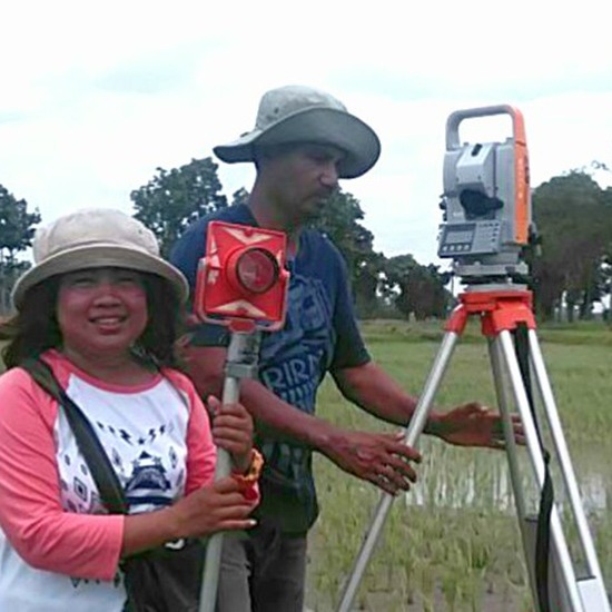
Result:
<instances>
[{"instance_id":1,"label":"man's hand nearer the woman, beside the left tripod leg","mask_svg":"<svg viewBox=\"0 0 612 612\"><path fill-rule=\"evenodd\" d=\"M409 462L421 462L418 452L404 444L403 437L402 433L342 431L334 436L325 454L345 472L396 495L416 482Z\"/></svg>"}]
</instances>

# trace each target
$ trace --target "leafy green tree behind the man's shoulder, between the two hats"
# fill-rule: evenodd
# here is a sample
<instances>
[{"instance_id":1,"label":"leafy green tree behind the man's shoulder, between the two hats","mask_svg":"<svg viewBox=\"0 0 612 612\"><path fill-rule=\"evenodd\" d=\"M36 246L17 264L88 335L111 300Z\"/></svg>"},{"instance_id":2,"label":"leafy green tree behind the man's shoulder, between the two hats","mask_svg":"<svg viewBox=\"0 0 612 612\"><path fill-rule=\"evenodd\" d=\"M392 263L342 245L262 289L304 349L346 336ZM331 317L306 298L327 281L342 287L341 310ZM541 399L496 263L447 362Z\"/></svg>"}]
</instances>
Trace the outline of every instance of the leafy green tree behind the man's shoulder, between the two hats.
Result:
<instances>
[{"instance_id":1,"label":"leafy green tree behind the man's shoulder, between the two hats","mask_svg":"<svg viewBox=\"0 0 612 612\"><path fill-rule=\"evenodd\" d=\"M190 223L227 206L217 168L210 157L171 170L157 168L147 185L130 194L135 217L155 233L164 257Z\"/></svg>"}]
</instances>

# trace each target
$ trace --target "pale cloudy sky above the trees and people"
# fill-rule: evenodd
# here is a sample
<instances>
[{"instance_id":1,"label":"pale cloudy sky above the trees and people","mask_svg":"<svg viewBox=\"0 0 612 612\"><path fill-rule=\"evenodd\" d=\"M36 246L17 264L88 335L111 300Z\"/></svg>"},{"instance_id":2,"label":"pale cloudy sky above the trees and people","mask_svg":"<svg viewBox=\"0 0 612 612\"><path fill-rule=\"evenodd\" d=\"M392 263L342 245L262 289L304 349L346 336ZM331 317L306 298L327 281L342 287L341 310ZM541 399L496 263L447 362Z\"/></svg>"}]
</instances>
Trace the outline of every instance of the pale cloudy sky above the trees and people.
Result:
<instances>
[{"instance_id":1,"label":"pale cloudy sky above the trees and people","mask_svg":"<svg viewBox=\"0 0 612 612\"><path fill-rule=\"evenodd\" d=\"M612 168L612 1L20 0L0 8L0 185L48 223L75 208L134 213L157 168L249 131L261 95L308 85L369 124L382 155L342 181L374 248L436 257L445 125L510 103L531 185ZM462 124L503 140L502 120ZM250 165L219 161L230 199ZM596 180L612 185L612 174Z\"/></svg>"}]
</instances>

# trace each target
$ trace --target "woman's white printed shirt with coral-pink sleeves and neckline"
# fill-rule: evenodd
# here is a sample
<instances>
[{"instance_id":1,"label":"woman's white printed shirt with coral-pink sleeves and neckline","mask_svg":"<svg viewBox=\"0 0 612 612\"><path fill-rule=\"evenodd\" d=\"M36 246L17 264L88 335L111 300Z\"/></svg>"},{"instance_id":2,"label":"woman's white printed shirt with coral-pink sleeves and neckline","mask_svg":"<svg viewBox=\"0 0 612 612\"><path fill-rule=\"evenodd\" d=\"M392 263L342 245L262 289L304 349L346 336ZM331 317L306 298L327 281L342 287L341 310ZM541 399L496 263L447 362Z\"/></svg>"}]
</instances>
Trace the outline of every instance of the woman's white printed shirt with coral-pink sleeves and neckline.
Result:
<instances>
[{"instance_id":1,"label":"woman's white printed shirt with coral-pink sleeves and neckline","mask_svg":"<svg viewBox=\"0 0 612 612\"><path fill-rule=\"evenodd\" d=\"M87 415L130 513L210 482L216 452L188 378L108 385L45 355ZM120 612L124 517L108 515L63 411L21 368L0 377L0 611Z\"/></svg>"}]
</instances>

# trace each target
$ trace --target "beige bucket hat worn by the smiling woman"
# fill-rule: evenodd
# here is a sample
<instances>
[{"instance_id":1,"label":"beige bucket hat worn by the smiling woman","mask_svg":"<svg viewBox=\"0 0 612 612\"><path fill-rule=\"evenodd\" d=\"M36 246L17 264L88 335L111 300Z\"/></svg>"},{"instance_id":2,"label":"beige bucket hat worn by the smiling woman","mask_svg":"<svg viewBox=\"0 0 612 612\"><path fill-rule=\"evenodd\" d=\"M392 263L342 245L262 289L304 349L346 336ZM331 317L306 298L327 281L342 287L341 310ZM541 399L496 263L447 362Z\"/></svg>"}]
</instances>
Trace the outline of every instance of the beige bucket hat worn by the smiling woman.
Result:
<instances>
[{"instance_id":1,"label":"beige bucket hat worn by the smiling woman","mask_svg":"<svg viewBox=\"0 0 612 612\"><path fill-rule=\"evenodd\" d=\"M119 267L155 274L185 302L185 276L159 256L155 234L138 219L110 208L83 209L39 227L32 244L34 265L16 283L12 302L23 305L28 289L51 276L86 268Z\"/></svg>"}]
</instances>

